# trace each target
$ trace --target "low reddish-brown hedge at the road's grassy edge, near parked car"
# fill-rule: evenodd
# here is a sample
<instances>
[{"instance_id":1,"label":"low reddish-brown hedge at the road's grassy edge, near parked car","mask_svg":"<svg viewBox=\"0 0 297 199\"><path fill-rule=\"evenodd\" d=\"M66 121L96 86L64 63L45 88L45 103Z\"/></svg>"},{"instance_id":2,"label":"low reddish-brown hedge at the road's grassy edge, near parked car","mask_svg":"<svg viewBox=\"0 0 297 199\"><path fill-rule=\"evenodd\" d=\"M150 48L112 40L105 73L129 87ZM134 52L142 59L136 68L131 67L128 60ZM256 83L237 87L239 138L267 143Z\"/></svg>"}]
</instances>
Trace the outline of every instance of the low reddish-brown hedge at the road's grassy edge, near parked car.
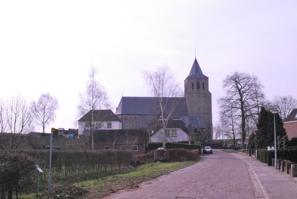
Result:
<instances>
[{"instance_id":1,"label":"low reddish-brown hedge at the road's grassy edge, near parked car","mask_svg":"<svg viewBox=\"0 0 297 199\"><path fill-rule=\"evenodd\" d=\"M147 154L137 155L135 157L136 164L141 165L148 162L154 162L154 153L158 150L152 150ZM165 152L165 150L159 150ZM164 153L161 153L162 156ZM200 151L197 149L166 149L166 162L181 162L188 160L195 160L199 157Z\"/></svg>"}]
</instances>

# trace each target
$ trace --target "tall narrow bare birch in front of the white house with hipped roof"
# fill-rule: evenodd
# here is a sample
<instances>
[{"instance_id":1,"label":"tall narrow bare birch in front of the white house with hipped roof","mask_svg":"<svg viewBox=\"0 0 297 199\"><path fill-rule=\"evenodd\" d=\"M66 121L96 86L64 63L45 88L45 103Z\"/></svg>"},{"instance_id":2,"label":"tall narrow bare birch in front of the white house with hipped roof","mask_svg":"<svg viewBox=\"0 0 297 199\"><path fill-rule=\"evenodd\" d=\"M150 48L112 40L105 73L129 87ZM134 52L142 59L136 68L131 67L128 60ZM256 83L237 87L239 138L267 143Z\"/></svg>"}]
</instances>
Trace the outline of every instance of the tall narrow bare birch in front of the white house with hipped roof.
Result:
<instances>
[{"instance_id":1,"label":"tall narrow bare birch in front of the white house with hipped roof","mask_svg":"<svg viewBox=\"0 0 297 199\"><path fill-rule=\"evenodd\" d=\"M80 105L77 107L79 117L91 112L91 117L86 118L86 122L91 135L92 150L94 150L94 132L102 125L97 121L94 112L95 110L109 109L111 106L104 87L95 79L96 73L97 69L91 66L89 81L86 82L86 91L80 94Z\"/></svg>"}]
</instances>

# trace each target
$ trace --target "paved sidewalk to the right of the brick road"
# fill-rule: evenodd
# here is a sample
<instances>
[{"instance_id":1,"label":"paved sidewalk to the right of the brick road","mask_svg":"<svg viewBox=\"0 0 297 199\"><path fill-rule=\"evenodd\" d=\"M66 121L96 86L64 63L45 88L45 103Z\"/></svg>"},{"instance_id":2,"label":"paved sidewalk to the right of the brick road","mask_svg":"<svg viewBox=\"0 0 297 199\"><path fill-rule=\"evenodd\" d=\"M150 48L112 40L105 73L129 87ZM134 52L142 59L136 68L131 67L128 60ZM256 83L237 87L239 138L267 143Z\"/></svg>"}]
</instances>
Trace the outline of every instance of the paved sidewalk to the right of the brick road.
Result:
<instances>
[{"instance_id":1,"label":"paved sidewalk to the right of the brick road","mask_svg":"<svg viewBox=\"0 0 297 199\"><path fill-rule=\"evenodd\" d=\"M230 154L249 164L266 198L297 198L297 179L256 158L238 153Z\"/></svg>"}]
</instances>

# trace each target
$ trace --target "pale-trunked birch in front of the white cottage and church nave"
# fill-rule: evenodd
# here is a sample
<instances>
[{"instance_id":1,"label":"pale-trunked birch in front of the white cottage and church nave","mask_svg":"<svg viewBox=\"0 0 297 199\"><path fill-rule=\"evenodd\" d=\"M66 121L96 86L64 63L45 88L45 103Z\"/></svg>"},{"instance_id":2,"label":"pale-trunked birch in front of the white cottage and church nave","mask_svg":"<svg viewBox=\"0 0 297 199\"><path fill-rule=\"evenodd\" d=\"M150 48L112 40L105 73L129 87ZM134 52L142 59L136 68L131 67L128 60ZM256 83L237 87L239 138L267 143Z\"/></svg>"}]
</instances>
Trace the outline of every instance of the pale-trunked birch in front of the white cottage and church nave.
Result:
<instances>
[{"instance_id":1,"label":"pale-trunked birch in front of the white cottage and church nave","mask_svg":"<svg viewBox=\"0 0 297 199\"><path fill-rule=\"evenodd\" d=\"M158 67L157 71L142 70L141 72L154 97L159 100L160 119L162 120L163 132L165 132L168 120L183 96L182 90L168 66ZM176 97L176 99L169 100L170 97ZM165 108L168 110L167 113L165 113ZM166 137L164 133L162 140L163 147L165 147Z\"/></svg>"}]
</instances>

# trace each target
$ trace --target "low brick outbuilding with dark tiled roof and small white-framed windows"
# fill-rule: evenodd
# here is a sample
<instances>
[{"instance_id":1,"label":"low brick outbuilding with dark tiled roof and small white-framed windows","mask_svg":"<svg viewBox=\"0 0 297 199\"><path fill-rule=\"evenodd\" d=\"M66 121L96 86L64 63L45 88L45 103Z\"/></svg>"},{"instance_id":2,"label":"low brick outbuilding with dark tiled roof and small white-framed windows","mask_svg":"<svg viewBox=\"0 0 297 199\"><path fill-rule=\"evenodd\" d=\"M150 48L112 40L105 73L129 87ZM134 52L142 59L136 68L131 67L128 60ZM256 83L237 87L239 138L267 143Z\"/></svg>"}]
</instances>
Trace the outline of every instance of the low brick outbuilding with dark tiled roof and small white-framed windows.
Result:
<instances>
[{"instance_id":1,"label":"low brick outbuilding with dark tiled roof and small white-framed windows","mask_svg":"<svg viewBox=\"0 0 297 199\"><path fill-rule=\"evenodd\" d=\"M91 138L89 139L91 149ZM148 144L145 129L97 130L94 133L95 150L131 150L132 157L145 154Z\"/></svg>"}]
</instances>

